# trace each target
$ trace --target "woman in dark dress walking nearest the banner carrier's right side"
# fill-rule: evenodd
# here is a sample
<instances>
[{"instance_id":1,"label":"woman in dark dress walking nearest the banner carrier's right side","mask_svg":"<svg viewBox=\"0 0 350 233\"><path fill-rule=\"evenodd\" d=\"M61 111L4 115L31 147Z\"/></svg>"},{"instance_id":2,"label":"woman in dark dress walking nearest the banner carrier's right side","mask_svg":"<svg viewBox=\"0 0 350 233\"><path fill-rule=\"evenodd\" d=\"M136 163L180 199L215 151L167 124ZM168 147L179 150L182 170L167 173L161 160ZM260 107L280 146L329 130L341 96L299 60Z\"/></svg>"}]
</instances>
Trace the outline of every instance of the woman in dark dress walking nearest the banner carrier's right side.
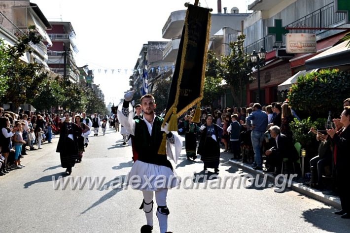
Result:
<instances>
[{"instance_id":1,"label":"woman in dark dress walking nearest the banner carrier's right side","mask_svg":"<svg viewBox=\"0 0 350 233\"><path fill-rule=\"evenodd\" d=\"M187 121L185 121L185 143L186 143L186 156L187 159L193 158L197 159L196 149L197 149L197 133L199 132L199 127L192 122L193 116L188 116Z\"/></svg>"}]
</instances>

